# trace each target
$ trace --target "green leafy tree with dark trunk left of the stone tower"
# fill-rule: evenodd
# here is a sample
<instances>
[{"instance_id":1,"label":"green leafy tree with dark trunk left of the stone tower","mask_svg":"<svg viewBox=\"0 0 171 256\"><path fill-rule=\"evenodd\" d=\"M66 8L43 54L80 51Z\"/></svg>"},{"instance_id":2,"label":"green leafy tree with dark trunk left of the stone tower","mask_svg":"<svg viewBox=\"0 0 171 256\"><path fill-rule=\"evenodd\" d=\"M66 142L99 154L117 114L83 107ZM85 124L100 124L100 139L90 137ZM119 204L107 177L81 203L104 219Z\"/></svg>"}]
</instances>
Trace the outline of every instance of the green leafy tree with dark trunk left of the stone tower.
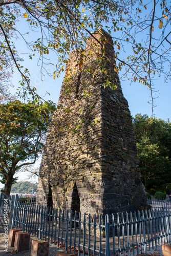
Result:
<instances>
[{"instance_id":1,"label":"green leafy tree with dark trunk left of the stone tower","mask_svg":"<svg viewBox=\"0 0 171 256\"><path fill-rule=\"evenodd\" d=\"M0 105L0 176L5 194L10 194L14 174L34 164L41 154L54 106L22 103L18 100Z\"/></svg>"}]
</instances>

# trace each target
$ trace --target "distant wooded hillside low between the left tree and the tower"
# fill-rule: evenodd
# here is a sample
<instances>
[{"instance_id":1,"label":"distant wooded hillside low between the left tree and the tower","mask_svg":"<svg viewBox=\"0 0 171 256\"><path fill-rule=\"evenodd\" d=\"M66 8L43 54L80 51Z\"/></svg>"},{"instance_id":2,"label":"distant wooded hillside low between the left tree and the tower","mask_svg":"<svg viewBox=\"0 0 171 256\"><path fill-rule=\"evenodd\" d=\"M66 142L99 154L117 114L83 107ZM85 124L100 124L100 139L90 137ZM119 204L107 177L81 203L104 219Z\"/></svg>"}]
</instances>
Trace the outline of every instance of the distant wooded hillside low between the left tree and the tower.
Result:
<instances>
[{"instance_id":1,"label":"distant wooded hillside low between the left tree and the tower","mask_svg":"<svg viewBox=\"0 0 171 256\"><path fill-rule=\"evenodd\" d=\"M17 194L31 194L33 189L33 194L37 190L37 182L31 183L29 181L19 181L12 185L11 193Z\"/></svg>"}]
</instances>

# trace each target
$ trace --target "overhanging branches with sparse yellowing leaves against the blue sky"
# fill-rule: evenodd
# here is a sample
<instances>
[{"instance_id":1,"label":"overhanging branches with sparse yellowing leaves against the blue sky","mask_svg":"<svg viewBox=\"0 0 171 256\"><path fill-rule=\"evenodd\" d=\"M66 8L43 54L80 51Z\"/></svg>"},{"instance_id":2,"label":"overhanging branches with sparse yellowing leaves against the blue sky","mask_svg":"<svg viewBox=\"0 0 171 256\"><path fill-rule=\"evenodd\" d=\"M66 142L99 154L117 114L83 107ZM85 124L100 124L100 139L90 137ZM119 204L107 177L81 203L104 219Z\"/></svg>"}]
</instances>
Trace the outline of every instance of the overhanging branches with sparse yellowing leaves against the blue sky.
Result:
<instances>
[{"instance_id":1,"label":"overhanging branches with sparse yellowing leaves against the blue sky","mask_svg":"<svg viewBox=\"0 0 171 256\"><path fill-rule=\"evenodd\" d=\"M50 63L48 54L56 53L55 78L65 69L69 52L76 50L78 56L87 37L93 37L93 33L99 33L99 28L103 27L114 40L116 72L122 70L130 82L145 84L152 94L156 74L164 75L163 80L171 75L170 7L170 3L163 0L1 0L1 86L4 83L1 77L16 67L22 77L21 87L26 90L24 95L30 93L34 99L38 97L35 88L30 86L28 68L22 66L16 38L26 42L30 59L39 53L41 72ZM23 20L29 25L24 32L17 27ZM125 54L119 55L120 52ZM79 72L79 65L77 69ZM115 88L115 84L113 86Z\"/></svg>"}]
</instances>

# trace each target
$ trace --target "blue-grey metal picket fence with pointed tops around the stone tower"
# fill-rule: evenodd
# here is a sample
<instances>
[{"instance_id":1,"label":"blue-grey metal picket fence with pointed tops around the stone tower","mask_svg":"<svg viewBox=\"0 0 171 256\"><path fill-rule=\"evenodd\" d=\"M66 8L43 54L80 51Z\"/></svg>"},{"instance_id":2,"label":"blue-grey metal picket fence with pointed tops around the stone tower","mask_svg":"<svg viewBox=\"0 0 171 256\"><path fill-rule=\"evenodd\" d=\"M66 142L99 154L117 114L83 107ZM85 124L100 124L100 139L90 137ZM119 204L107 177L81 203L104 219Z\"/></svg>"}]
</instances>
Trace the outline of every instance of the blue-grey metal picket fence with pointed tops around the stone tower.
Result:
<instances>
[{"instance_id":1,"label":"blue-grey metal picket fence with pointed tops around the stone tower","mask_svg":"<svg viewBox=\"0 0 171 256\"><path fill-rule=\"evenodd\" d=\"M152 210L116 216L87 216L77 218L76 212L49 209L33 203L18 201L13 215L13 227L48 240L66 251L78 255L138 255L157 245L171 243L170 203L153 200ZM1 206L1 198L0 198ZM1 225L1 220L0 220Z\"/></svg>"}]
</instances>

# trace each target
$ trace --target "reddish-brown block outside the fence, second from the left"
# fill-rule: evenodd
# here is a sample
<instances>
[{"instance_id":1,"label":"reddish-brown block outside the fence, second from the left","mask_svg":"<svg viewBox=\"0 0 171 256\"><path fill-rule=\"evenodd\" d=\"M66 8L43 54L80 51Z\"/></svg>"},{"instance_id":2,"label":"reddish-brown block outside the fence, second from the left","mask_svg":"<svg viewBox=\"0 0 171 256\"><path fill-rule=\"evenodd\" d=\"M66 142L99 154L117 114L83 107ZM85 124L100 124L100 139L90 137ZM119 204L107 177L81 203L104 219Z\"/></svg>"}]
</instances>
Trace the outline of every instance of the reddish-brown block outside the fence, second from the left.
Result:
<instances>
[{"instance_id":1,"label":"reddish-brown block outside the fence, second from the left","mask_svg":"<svg viewBox=\"0 0 171 256\"><path fill-rule=\"evenodd\" d=\"M16 232L15 233L15 242L14 250L24 251L29 249L30 234L26 232Z\"/></svg>"}]
</instances>

